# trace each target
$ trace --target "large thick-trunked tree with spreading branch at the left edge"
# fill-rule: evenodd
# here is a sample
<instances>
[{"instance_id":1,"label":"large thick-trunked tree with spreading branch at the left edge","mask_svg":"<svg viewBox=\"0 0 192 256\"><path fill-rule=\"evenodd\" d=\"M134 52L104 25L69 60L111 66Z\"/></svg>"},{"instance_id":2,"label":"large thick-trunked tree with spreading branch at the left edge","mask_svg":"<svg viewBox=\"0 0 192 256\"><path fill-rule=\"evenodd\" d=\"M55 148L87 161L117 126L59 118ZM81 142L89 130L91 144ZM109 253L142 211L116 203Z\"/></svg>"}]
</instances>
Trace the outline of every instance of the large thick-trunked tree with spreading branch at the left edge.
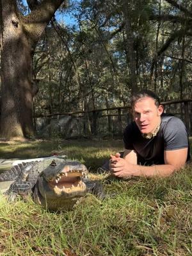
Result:
<instances>
[{"instance_id":1,"label":"large thick-trunked tree with spreading branch at the left edge","mask_svg":"<svg viewBox=\"0 0 192 256\"><path fill-rule=\"evenodd\" d=\"M1 138L33 136L32 103L38 89L33 83L36 43L65 0L28 0L23 15L17 0L0 0Z\"/></svg>"}]
</instances>

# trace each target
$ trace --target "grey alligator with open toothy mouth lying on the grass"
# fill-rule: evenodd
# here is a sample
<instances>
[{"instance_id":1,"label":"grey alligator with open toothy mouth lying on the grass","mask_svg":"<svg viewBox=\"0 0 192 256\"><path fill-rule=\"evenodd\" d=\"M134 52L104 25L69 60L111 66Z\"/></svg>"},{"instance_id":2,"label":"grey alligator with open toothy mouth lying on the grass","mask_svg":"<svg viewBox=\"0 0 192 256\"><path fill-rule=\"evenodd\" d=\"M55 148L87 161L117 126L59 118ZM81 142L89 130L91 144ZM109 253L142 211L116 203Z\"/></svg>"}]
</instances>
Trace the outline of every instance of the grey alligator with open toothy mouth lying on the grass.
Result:
<instances>
[{"instance_id":1,"label":"grey alligator with open toothy mouth lying on the grass","mask_svg":"<svg viewBox=\"0 0 192 256\"><path fill-rule=\"evenodd\" d=\"M32 195L36 204L51 211L70 210L86 193L104 198L102 184L89 180L84 164L58 157L20 163L0 174L1 181L14 180L4 195L15 200L18 195Z\"/></svg>"}]
</instances>

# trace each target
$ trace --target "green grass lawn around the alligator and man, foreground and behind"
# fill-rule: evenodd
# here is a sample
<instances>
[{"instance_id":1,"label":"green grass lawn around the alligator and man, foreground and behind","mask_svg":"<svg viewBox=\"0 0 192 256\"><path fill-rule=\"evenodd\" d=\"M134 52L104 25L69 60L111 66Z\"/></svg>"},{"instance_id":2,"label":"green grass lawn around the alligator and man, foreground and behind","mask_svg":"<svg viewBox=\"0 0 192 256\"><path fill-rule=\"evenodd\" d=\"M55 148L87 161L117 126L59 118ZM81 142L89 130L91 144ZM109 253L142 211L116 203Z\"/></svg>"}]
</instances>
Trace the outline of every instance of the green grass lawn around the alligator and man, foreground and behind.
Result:
<instances>
[{"instance_id":1,"label":"green grass lawn around the alligator and man, foreground and behind","mask_svg":"<svg viewBox=\"0 0 192 256\"><path fill-rule=\"evenodd\" d=\"M59 144L59 145L58 145ZM95 172L121 141L1 143L1 157L52 153L83 161ZM102 179L112 198L84 197L73 211L49 212L33 203L0 200L0 255L192 255L192 166L166 179Z\"/></svg>"}]
</instances>

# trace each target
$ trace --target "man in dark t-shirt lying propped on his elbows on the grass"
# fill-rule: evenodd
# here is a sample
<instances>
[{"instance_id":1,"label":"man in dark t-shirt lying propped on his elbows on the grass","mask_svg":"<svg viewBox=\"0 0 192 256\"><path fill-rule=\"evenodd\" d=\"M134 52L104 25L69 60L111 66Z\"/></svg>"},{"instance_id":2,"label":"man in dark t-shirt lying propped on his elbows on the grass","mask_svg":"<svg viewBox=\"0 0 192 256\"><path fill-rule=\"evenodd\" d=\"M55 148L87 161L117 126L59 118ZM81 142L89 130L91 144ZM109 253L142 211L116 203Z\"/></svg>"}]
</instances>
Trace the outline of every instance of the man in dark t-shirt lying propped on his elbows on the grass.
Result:
<instances>
[{"instance_id":1,"label":"man in dark t-shirt lying propped on his elbows on the grass","mask_svg":"<svg viewBox=\"0 0 192 256\"><path fill-rule=\"evenodd\" d=\"M189 160L189 141L183 122L163 113L154 92L132 97L134 122L124 131L125 151L111 155L109 170L115 177L166 177Z\"/></svg>"}]
</instances>

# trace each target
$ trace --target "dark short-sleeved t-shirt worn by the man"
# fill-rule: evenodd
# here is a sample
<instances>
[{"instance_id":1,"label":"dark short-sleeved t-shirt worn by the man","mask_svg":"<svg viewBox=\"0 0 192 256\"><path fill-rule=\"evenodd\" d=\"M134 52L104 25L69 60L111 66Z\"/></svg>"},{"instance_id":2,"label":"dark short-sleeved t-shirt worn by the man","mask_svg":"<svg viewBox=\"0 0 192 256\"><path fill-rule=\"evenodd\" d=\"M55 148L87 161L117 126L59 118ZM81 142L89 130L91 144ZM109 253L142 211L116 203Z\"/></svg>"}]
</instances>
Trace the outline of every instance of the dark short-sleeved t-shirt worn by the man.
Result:
<instances>
[{"instance_id":1,"label":"dark short-sleeved t-shirt worn by the man","mask_svg":"<svg viewBox=\"0 0 192 256\"><path fill-rule=\"evenodd\" d=\"M188 148L190 159L188 133L184 123L175 116L162 115L161 125L154 138L146 139L141 135L135 122L127 125L124 131L124 144L128 150L135 150L138 164L164 164L164 150Z\"/></svg>"}]
</instances>

